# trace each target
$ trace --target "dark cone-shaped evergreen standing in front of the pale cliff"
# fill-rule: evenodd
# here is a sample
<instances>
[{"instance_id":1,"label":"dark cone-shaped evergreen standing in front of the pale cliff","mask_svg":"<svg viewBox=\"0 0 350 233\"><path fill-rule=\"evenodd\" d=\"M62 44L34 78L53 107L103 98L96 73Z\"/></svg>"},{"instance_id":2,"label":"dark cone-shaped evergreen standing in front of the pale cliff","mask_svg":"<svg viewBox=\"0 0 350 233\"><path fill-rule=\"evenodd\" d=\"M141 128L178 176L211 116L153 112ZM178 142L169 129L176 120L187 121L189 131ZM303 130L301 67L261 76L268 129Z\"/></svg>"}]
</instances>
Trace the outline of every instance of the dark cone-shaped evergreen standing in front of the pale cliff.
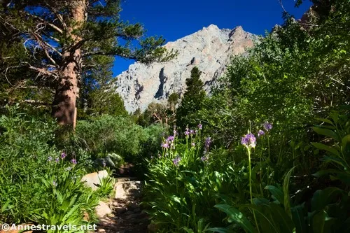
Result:
<instances>
[{"instance_id":1,"label":"dark cone-shaped evergreen standing in front of the pale cliff","mask_svg":"<svg viewBox=\"0 0 350 233\"><path fill-rule=\"evenodd\" d=\"M195 113L200 111L203 106L206 94L203 90L203 82L200 80L200 69L194 67L191 70L190 78L186 79L186 92L183 94L181 104L176 111L176 125L181 128L186 125L194 126L196 124Z\"/></svg>"}]
</instances>

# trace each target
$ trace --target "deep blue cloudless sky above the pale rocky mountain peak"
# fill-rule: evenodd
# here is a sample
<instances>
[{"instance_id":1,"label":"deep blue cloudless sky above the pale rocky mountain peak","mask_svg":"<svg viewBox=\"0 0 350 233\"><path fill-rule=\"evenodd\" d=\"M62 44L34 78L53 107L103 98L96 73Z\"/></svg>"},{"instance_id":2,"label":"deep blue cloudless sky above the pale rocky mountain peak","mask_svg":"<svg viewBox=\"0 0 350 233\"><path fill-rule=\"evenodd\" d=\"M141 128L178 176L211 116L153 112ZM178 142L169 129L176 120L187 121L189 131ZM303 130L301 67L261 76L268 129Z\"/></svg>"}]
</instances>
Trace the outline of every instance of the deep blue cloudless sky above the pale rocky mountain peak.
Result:
<instances>
[{"instance_id":1,"label":"deep blue cloudless sky above the pale rocky mountain peak","mask_svg":"<svg viewBox=\"0 0 350 233\"><path fill-rule=\"evenodd\" d=\"M294 4L294 0L283 0L284 8L297 18L310 6L307 1L300 8L294 8ZM147 29L146 36L163 36L167 41L176 41L210 24L228 29L240 25L245 31L262 35L283 22L279 0L122 0L122 8L122 20L140 22ZM133 62L117 58L114 75Z\"/></svg>"}]
</instances>

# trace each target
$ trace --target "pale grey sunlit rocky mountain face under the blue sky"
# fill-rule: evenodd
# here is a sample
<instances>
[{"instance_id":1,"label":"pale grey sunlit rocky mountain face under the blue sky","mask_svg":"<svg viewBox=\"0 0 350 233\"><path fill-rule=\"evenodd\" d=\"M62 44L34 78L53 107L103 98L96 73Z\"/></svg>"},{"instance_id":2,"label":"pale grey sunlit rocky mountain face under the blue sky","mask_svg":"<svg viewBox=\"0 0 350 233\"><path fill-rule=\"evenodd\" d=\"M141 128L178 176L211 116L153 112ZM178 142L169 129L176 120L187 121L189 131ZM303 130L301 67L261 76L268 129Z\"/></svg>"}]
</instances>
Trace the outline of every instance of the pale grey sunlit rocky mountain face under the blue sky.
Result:
<instances>
[{"instance_id":1,"label":"pale grey sunlit rocky mountain face under the blue sky","mask_svg":"<svg viewBox=\"0 0 350 233\"><path fill-rule=\"evenodd\" d=\"M218 29L211 24L202 30L165 45L169 50L178 50L179 55L169 62L151 65L136 62L117 76L116 92L125 102L127 111L137 108L144 111L151 102L166 101L170 94L186 91L186 78L197 66L202 71L204 90L223 75L232 55L243 53L253 46L255 36L241 27Z\"/></svg>"}]
</instances>

